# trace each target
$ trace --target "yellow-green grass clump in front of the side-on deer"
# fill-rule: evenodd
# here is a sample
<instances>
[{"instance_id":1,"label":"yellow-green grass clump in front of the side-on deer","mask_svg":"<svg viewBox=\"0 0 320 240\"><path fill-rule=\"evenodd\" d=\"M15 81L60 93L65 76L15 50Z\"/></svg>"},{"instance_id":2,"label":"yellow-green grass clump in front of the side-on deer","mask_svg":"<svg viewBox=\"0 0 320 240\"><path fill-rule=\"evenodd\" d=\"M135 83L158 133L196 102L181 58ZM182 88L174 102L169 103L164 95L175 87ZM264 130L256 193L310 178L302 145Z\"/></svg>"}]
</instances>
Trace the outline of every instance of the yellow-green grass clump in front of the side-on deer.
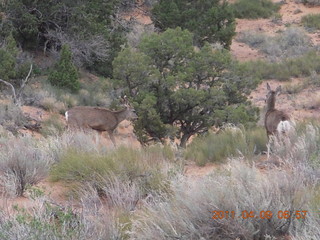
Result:
<instances>
[{"instance_id":1,"label":"yellow-green grass clump in front of the side-on deer","mask_svg":"<svg viewBox=\"0 0 320 240\"><path fill-rule=\"evenodd\" d=\"M134 150L120 147L101 154L68 150L52 168L50 175L53 181L77 184L77 191L89 184L99 194L109 197L116 186L136 189L137 192L132 194L137 197L169 193L168 178L177 169L168 163L173 160L173 154L168 151L166 148Z\"/></svg>"}]
</instances>

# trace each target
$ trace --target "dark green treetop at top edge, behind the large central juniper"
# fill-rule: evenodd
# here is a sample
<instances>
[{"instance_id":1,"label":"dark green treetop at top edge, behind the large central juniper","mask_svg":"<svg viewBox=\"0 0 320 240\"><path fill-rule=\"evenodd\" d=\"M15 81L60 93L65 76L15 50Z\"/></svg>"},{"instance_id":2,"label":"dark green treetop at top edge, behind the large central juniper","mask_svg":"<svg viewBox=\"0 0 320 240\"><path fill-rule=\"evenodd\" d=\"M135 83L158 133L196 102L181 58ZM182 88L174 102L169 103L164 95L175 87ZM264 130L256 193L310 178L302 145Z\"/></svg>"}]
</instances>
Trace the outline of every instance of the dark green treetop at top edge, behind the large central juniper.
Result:
<instances>
[{"instance_id":1,"label":"dark green treetop at top edge, behind the large central juniper","mask_svg":"<svg viewBox=\"0 0 320 240\"><path fill-rule=\"evenodd\" d=\"M226 1L160 0L152 9L152 19L162 31L188 29L199 46L208 41L229 48L235 35L235 19Z\"/></svg>"}]
</instances>

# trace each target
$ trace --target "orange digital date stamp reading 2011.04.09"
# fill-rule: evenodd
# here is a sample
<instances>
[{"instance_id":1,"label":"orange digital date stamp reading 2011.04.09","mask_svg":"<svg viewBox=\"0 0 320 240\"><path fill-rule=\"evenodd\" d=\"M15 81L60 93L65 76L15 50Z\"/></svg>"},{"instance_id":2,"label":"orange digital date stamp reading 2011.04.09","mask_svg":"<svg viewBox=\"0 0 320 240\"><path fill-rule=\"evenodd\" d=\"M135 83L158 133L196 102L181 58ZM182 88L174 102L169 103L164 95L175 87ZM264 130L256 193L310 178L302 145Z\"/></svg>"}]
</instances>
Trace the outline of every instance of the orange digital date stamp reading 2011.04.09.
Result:
<instances>
[{"instance_id":1,"label":"orange digital date stamp reading 2011.04.09","mask_svg":"<svg viewBox=\"0 0 320 240\"><path fill-rule=\"evenodd\" d=\"M215 210L212 211L212 219L271 219L273 217L276 217L278 219L305 219L307 217L308 211L288 211L288 210L283 210L283 211L277 211L277 212L272 212L272 211L241 211L240 213L236 213L235 211L219 211Z\"/></svg>"}]
</instances>

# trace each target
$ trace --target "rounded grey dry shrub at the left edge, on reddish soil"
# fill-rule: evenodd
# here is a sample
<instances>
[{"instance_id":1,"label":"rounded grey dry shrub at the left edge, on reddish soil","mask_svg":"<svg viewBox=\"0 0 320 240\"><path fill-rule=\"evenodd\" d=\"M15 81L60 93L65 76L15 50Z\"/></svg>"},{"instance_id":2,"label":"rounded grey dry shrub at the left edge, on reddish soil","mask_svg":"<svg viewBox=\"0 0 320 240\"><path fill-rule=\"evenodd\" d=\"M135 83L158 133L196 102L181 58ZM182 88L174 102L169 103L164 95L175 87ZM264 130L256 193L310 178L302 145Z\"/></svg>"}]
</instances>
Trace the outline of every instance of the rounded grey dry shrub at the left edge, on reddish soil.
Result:
<instances>
[{"instance_id":1,"label":"rounded grey dry shrub at the left edge, on reddish soil","mask_svg":"<svg viewBox=\"0 0 320 240\"><path fill-rule=\"evenodd\" d=\"M12 138L1 145L1 187L8 194L21 196L28 185L47 176L50 164L51 158L32 139Z\"/></svg>"}]
</instances>

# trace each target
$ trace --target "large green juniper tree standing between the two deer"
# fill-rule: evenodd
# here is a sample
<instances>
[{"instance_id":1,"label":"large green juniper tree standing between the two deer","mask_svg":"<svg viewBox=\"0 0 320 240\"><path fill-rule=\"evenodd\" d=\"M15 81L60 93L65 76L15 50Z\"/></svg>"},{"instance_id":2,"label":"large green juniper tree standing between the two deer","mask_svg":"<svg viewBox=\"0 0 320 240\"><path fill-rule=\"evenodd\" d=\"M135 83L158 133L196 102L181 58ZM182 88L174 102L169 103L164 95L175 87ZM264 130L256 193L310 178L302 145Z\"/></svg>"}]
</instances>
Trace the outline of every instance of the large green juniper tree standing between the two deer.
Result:
<instances>
[{"instance_id":1,"label":"large green juniper tree standing between the two deer","mask_svg":"<svg viewBox=\"0 0 320 240\"><path fill-rule=\"evenodd\" d=\"M256 121L245 96L256 81L237 74L236 65L227 50L209 44L195 50L188 30L168 29L143 38L137 52L120 52L114 81L135 102L141 142L176 135L185 146L213 125Z\"/></svg>"}]
</instances>

